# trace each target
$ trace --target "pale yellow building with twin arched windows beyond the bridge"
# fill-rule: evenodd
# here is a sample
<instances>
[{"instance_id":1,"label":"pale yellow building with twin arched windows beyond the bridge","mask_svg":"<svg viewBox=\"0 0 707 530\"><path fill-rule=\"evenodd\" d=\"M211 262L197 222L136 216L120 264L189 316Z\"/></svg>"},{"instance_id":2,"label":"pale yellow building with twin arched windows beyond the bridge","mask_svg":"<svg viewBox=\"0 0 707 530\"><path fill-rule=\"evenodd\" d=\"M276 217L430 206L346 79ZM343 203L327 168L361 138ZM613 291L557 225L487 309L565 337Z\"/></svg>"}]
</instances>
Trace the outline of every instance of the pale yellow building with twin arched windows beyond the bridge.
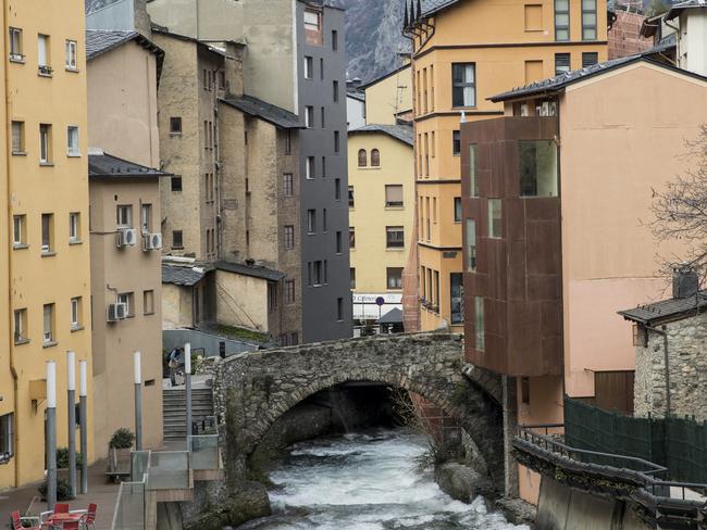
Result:
<instances>
[{"instance_id":1,"label":"pale yellow building with twin arched windows beyond the bridge","mask_svg":"<svg viewBox=\"0 0 707 530\"><path fill-rule=\"evenodd\" d=\"M414 220L412 127L371 124L348 134L348 201L355 320L401 310ZM379 310L375 301L383 298Z\"/></svg>"}]
</instances>

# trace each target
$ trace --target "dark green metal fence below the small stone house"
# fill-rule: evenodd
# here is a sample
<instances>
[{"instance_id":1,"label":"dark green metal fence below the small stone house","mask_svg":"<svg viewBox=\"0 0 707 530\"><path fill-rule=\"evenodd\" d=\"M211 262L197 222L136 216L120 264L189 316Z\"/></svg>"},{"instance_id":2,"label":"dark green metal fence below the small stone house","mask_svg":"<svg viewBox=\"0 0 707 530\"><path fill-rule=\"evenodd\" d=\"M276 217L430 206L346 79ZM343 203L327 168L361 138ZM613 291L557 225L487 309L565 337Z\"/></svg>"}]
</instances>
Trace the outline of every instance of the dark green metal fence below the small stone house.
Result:
<instances>
[{"instance_id":1,"label":"dark green metal fence below the small stone house","mask_svg":"<svg viewBox=\"0 0 707 530\"><path fill-rule=\"evenodd\" d=\"M566 398L565 440L654 462L667 467L672 480L707 482L707 424L691 418L635 418Z\"/></svg>"}]
</instances>

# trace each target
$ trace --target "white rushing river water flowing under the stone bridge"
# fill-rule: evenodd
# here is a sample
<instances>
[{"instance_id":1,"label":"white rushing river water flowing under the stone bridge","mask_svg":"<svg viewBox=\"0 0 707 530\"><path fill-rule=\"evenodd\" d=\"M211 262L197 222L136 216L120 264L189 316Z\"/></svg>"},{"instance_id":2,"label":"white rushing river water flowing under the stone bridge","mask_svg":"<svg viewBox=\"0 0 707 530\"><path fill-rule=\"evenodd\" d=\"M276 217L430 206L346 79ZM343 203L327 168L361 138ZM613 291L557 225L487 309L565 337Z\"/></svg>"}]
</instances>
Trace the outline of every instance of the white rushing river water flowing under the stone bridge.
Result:
<instances>
[{"instance_id":1,"label":"white rushing river water flowing under the stone bridge","mask_svg":"<svg viewBox=\"0 0 707 530\"><path fill-rule=\"evenodd\" d=\"M272 517L248 530L526 529L472 504L452 500L420 468L424 439L404 430L322 438L296 444L270 493Z\"/></svg>"}]
</instances>

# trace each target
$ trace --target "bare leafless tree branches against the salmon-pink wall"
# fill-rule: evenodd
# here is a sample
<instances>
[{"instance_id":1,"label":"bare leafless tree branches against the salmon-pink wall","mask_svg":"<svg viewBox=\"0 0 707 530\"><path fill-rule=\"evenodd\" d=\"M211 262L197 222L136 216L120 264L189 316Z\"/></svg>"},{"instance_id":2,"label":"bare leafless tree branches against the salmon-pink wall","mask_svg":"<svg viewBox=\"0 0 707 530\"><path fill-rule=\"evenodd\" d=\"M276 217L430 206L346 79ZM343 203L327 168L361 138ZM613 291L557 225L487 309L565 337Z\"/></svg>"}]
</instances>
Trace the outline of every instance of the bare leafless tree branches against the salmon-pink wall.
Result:
<instances>
[{"instance_id":1,"label":"bare leafless tree branches against the salmon-pink wall","mask_svg":"<svg viewBox=\"0 0 707 530\"><path fill-rule=\"evenodd\" d=\"M684 157L696 166L678 175L665 189L653 189L650 229L658 242L679 240L686 247L682 261L707 270L707 125L686 142Z\"/></svg>"}]
</instances>

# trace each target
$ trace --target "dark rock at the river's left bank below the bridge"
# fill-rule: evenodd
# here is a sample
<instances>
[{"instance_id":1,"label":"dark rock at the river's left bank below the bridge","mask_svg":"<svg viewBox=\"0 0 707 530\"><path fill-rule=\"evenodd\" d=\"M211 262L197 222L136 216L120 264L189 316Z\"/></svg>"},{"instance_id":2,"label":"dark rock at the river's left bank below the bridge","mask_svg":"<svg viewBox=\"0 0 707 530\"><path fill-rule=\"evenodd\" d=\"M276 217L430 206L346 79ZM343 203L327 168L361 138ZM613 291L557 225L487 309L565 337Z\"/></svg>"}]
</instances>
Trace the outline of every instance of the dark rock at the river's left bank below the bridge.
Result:
<instances>
[{"instance_id":1,"label":"dark rock at the river's left bank below the bridge","mask_svg":"<svg viewBox=\"0 0 707 530\"><path fill-rule=\"evenodd\" d=\"M244 481L224 502L209 506L184 526L184 530L222 530L237 527L251 519L271 515L265 487Z\"/></svg>"}]
</instances>

